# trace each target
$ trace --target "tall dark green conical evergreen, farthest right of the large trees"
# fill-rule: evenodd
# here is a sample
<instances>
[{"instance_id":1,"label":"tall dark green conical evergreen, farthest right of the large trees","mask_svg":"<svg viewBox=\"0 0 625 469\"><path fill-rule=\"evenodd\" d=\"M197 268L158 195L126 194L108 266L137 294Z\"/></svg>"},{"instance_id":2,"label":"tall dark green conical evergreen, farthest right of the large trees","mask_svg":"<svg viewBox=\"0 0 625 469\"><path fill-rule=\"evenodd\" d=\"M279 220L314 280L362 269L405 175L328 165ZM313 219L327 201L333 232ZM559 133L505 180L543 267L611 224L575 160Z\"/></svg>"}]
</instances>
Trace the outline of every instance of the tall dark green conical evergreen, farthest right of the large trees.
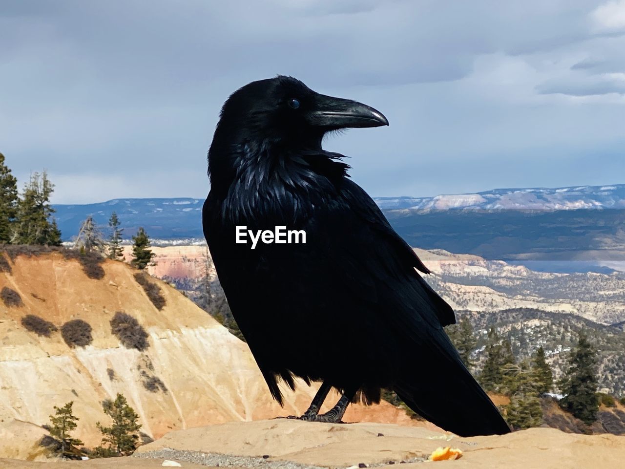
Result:
<instances>
[{"instance_id":1,"label":"tall dark green conical evergreen, farthest right of the large trees","mask_svg":"<svg viewBox=\"0 0 625 469\"><path fill-rule=\"evenodd\" d=\"M559 404L564 410L587 425L597 420L597 353L583 331L559 385L564 394Z\"/></svg>"}]
</instances>

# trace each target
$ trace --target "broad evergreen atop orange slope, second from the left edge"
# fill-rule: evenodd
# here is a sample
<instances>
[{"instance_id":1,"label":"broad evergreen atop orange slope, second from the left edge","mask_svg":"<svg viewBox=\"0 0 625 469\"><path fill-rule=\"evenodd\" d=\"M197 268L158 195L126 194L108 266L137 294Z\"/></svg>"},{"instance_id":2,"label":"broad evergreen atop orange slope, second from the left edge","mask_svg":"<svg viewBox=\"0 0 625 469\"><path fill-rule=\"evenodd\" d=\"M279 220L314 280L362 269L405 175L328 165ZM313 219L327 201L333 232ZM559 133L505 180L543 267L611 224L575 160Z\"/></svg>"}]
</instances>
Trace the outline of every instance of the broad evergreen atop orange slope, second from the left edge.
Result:
<instances>
[{"instance_id":1,"label":"broad evergreen atop orange slope, second from the left edge","mask_svg":"<svg viewBox=\"0 0 625 469\"><path fill-rule=\"evenodd\" d=\"M54 184L47 173L34 173L24 186L22 197L17 202L16 223L11 242L18 245L61 245L61 231L52 217L54 209L50 196ZM51 219L52 218L52 219Z\"/></svg>"}]
</instances>

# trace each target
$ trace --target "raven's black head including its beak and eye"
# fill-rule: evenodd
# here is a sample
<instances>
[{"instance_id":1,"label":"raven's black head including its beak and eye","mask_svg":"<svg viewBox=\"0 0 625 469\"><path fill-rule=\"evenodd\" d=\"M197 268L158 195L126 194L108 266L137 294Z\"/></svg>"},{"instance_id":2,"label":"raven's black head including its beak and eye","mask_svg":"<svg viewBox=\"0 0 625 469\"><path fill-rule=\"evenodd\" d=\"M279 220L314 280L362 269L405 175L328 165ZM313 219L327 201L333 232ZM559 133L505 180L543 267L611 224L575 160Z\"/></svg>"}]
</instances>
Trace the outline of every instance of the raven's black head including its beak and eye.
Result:
<instances>
[{"instance_id":1,"label":"raven's black head including its beak and eye","mask_svg":"<svg viewBox=\"0 0 625 469\"><path fill-rule=\"evenodd\" d=\"M376 109L316 93L301 81L277 76L252 81L227 99L213 143L282 142L320 146L328 131L388 125ZM222 142L226 143L226 142Z\"/></svg>"}]
</instances>

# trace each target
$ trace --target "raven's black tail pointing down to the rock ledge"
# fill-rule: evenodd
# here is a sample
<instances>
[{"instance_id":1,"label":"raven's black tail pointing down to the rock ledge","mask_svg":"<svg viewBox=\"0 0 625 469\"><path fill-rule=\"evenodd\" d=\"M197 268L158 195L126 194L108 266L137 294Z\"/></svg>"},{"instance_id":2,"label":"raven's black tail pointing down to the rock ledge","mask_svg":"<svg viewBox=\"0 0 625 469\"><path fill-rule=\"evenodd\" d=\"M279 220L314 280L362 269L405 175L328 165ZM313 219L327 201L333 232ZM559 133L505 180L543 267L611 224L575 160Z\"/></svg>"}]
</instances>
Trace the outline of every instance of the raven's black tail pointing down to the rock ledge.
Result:
<instances>
[{"instance_id":1,"label":"raven's black tail pointing down to the rock ledge","mask_svg":"<svg viewBox=\"0 0 625 469\"><path fill-rule=\"evenodd\" d=\"M506 421L459 358L446 365L419 373L421 382L401 380L393 390L416 413L456 435L509 433Z\"/></svg>"}]
</instances>

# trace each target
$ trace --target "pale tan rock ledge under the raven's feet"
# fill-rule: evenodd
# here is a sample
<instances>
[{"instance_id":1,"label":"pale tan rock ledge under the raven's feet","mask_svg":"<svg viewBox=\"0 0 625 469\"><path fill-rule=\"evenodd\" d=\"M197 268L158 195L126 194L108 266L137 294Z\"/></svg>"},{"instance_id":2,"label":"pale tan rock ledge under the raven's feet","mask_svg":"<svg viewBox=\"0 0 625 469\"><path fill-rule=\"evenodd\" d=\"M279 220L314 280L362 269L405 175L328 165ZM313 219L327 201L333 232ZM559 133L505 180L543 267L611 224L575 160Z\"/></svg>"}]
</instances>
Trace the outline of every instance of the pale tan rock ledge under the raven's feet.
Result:
<instances>
[{"instance_id":1,"label":"pale tan rock ledge under the raven's feet","mask_svg":"<svg viewBox=\"0 0 625 469\"><path fill-rule=\"evenodd\" d=\"M436 464L458 469L616 469L622 467L625 458L624 436L577 435L552 428L532 428L504 436L460 438L442 431L390 424L336 425L282 419L172 431L141 446L131 458L66 461L54 467L114 465L118 469L140 469L173 461L184 468L355 469L404 463L409 469L431 464L429 456L441 446L457 448L462 456ZM0 468L41 469L44 464L0 460Z\"/></svg>"}]
</instances>

